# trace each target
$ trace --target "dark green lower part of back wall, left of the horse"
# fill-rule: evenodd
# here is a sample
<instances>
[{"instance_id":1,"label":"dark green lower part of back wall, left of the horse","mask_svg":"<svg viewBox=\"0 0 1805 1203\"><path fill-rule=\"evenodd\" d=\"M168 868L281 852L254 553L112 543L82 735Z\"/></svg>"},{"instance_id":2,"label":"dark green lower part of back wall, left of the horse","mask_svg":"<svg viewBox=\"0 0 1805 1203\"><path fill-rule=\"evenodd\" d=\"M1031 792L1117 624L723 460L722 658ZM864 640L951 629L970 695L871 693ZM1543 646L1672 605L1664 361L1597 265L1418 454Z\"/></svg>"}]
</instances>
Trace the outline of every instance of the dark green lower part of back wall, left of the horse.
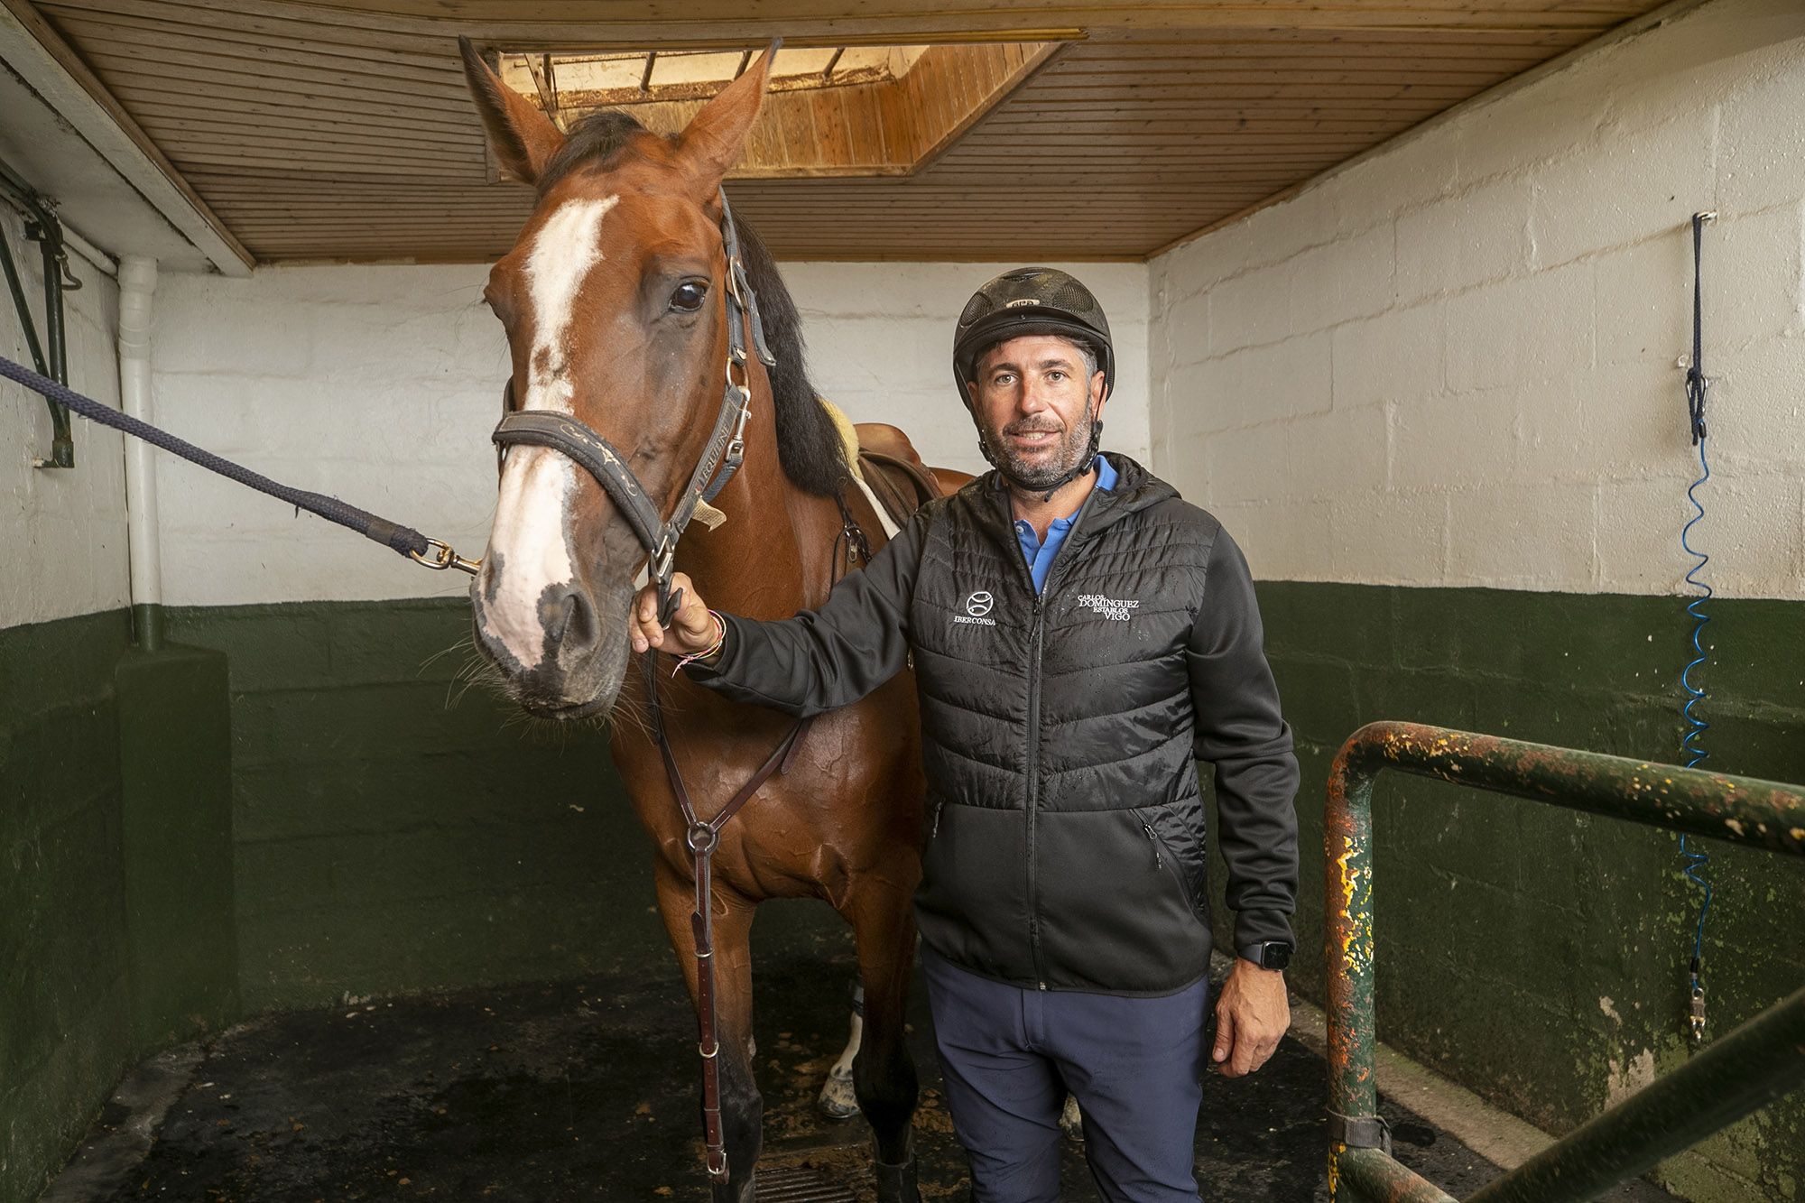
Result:
<instances>
[{"instance_id":1,"label":"dark green lower part of back wall, left of the horse","mask_svg":"<svg viewBox=\"0 0 1805 1203\"><path fill-rule=\"evenodd\" d=\"M245 1012L670 965L606 732L466 690L462 598L173 609L166 630L231 665Z\"/></svg>"}]
</instances>

